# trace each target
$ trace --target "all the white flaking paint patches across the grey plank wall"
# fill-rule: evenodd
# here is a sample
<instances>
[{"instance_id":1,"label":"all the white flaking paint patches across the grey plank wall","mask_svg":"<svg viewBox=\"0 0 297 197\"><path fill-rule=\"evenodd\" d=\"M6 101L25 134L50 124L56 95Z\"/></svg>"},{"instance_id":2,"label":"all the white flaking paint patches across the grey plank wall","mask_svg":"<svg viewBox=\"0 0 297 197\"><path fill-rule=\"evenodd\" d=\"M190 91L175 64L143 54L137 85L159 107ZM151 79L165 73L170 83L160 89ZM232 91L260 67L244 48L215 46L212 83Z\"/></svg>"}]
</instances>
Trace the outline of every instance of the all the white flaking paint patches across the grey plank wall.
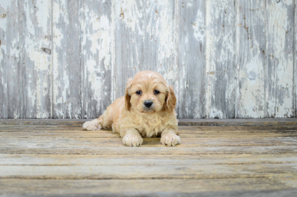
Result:
<instances>
[{"instance_id":1,"label":"all the white flaking paint patches across the grey plank wall","mask_svg":"<svg viewBox=\"0 0 297 197\"><path fill-rule=\"evenodd\" d=\"M93 3L93 1L91 2ZM205 109L207 117L224 118L226 115L226 112L222 111L220 107L214 107L212 100L222 99L225 100L226 103L233 102L230 101L230 98L234 95L233 90L235 89L236 84L232 81L232 79L228 79L228 75L226 73L221 75L225 80L228 80L226 90L224 90L225 98L215 97L215 83L218 83L217 80L219 80L216 64L222 63L222 66L226 66L224 63L229 63L230 59L232 59L232 55L230 54L235 53L233 49L234 44L232 36L230 36L232 35L231 30L223 29L220 25L215 25L215 22L219 21L222 17L225 17L225 23L232 23L232 14L227 14L226 16L222 14L222 8L225 8L224 6L230 2L231 4L228 5L229 7L233 5L233 1L205 1L206 17L201 11L203 9L199 9L197 14L193 16L194 20L191 21L192 26L189 26L192 28L191 31L193 30L194 32L193 36L195 39L203 44L203 49L205 47L206 67L204 77L206 101ZM27 63L25 66L32 66L30 67L30 69L32 68L30 73L25 74L27 77L26 80L28 81L24 80L24 83L28 85L25 87L26 90L24 91L24 99L28 105L26 107L28 108L29 117L45 118L49 116L48 112L44 109L44 102L48 97L47 81L51 73L49 71L50 55L42 51L42 48L52 48L52 74L54 76L52 81L54 99L52 102L55 104L54 106L57 106L57 104L61 104L62 106L54 109L55 114L65 118L65 114L67 113L70 118L78 118L79 116L77 114L80 114L81 109L75 109L75 104L67 97L67 95L71 93L69 90L71 89L70 79L73 76L69 76L68 71L61 69L61 67L63 66L63 68L67 68L69 66L80 66L80 64L68 65L67 59L63 59L62 62L58 59L58 57L60 58L61 56L68 55L66 50L63 50L61 53L60 51L65 49L66 46L64 45L67 43L65 43L64 40L66 38L68 39L67 31L69 29L66 28L67 31L64 32L65 29L63 29L63 25L69 24L69 19L72 17L72 13L69 13L68 15L67 3L69 2L66 0L53 0L52 3L52 17L54 22L54 24L52 24L53 46L50 46L51 41L47 36L50 36L48 35L48 31L50 29L48 24L50 24L51 0L34 1L33 4L32 2L25 0L24 4L21 6L21 9L24 8L24 10L21 11L24 15L22 17L15 18L16 24L22 24L23 22L25 26L22 27L22 35L16 33L13 38L9 37L9 32L7 32L11 31L11 27L9 27L7 23L9 14L16 14L11 12L11 9L15 9L15 7L18 8L17 1L7 0L1 2L0 16L4 16L4 14L7 14L7 16L0 17L0 30L4 32L4 37L1 38L0 61L4 60L7 61L6 63L8 65L12 65L10 70L11 72L8 73L12 76L16 76L19 72L16 64L18 59L25 59L25 62ZM102 0L100 3L105 3L105 0ZM84 107L86 109L88 109L88 107L90 109L95 107L96 109L101 109L101 106L99 105L102 99L108 95L108 88L106 88L105 83L106 80L109 80L108 78L105 78L105 74L108 70L111 70L112 72L111 83L113 90L111 91L111 97L112 100L115 99L117 88L115 78L117 75L116 73L113 73L114 70L111 65L114 65L115 67L117 66L115 65L115 47L118 43L115 43L113 36L115 33L114 30L121 30L115 29L115 20L121 20L123 22L121 25L124 25L125 31L128 32L127 34L130 34L130 36L125 35L126 38L129 39L127 40L128 45L121 46L125 47L124 49L129 51L129 53L125 53L125 55L128 55L128 57L125 56L127 59L122 60L129 61L127 67L130 70L134 70L136 72L138 70L142 70L144 66L148 66L148 68L149 66L155 66L154 68L156 68L156 71L162 73L167 81L175 82L175 90L180 86L179 90L187 91L188 88L193 87L193 84L197 85L197 83L199 83L197 81L187 79L187 73L191 72L191 70L187 69L191 66L188 61L184 61L184 59L181 60L181 63L179 64L179 66L181 66L181 68L179 68L180 73L177 71L178 55L186 57L189 53L186 50L180 54L177 54L176 52L179 33L176 30L178 29L179 24L176 24L176 17L173 19L172 12L178 12L178 9L181 8L177 8L179 1L175 1L175 4L175 8L172 9L172 2L169 0L154 2L138 0L124 0L121 2L112 1L113 7L111 20L109 20L108 15L102 14L101 11L97 12L98 9L95 10L94 8L88 7L88 2L79 4L81 7L78 9L81 9L81 13L84 12L85 19L81 19L81 24L73 24L73 27L75 28L73 31L77 31L77 29L82 31L81 44L84 46L82 55L84 56L85 61L83 63L85 66L85 73L82 73L82 79L88 78L88 81L85 81L85 86L88 88L90 87L89 90L82 91L81 95L84 97L87 91L91 91L93 93L91 99L97 102L97 106L90 106L91 102L88 100L85 101ZM195 4L195 2L188 1L185 3L185 7L191 9L193 4ZM265 4L265 2L261 2L261 5L262 4ZM270 76L270 80L273 82L272 87L275 91L286 90L284 91L285 93L282 93L281 98L278 97L279 95L275 97L274 93L269 94L266 91L269 116L275 115L275 117L290 117L294 114L294 107L292 107L292 98L294 97L292 82L294 70L292 65L294 63L293 58L295 58L295 62L297 62L297 59L296 57L293 57L293 53L290 53L291 51L289 51L290 54L288 54L288 49L285 49L285 43L288 42L286 31L289 29L288 33L290 34L292 27L289 22L291 21L291 18L294 17L292 16L292 12L288 11L290 10L288 8L295 6L294 4L295 2L292 0L283 0L279 3L272 1L272 4L268 3L267 6L267 19L269 21L267 23L269 31L268 34L275 36L273 42L268 43L268 46L273 50L271 53L267 54L267 59L274 62L276 66ZM101 5L98 4L98 6ZM228 6L226 7L228 8ZM261 7L265 7L265 5ZM254 6L252 8L256 7ZM8 13L8 11L11 13ZM121 12L123 15L121 15ZM228 12L229 9L227 9L227 13ZM175 16L177 15L178 14L175 13ZM242 16L238 15L237 17ZM263 17L266 18L266 16ZM185 22L189 21L186 19ZM206 26L211 26L208 26L207 29L203 29L204 22ZM254 24L251 25L254 25L256 28L257 24L254 22ZM242 25L236 28L239 29L244 27ZM263 31L265 31L265 29L266 28L263 28ZM204 43L205 35L206 43ZM296 35L297 34L295 34L295 36ZM10 43L7 43L7 37L9 37L8 40ZM148 39L148 37L152 39ZM24 38L24 40L20 40L20 38ZM238 39L240 39L239 36ZM239 42L238 39L237 42ZM186 37L184 41L185 44L191 44L191 39L188 39L188 37ZM214 47L218 42L222 43L220 46L221 51L218 51L218 48ZM20 43L24 44L21 48ZM244 81L244 83L242 83L242 90L237 89L237 94L240 94L241 97L239 109L245 111L245 114L249 117L265 117L266 114L264 113L264 110L261 110L261 107L263 106L262 100L259 101L259 98L263 98L263 88L261 87L265 86L265 81L263 80L265 71L260 68L263 64L259 55L260 53L255 52L255 50L259 50L257 48L259 48L260 44L257 40L253 40L252 44L248 42L248 44L251 45L252 48L250 49L249 56L244 60L245 67L238 70L237 75L239 79ZM148 46L154 47L156 53L152 55L152 59L156 60L153 61L156 62L156 65L141 65L141 61L144 63L151 61L148 60L151 57L146 54L146 51L142 52L142 46L144 48ZM20 55L22 51L23 53ZM238 52L238 50L236 52ZM131 55L130 53L133 54ZM145 56L145 59L141 60L143 56ZM193 58L195 59L197 57ZM174 65L172 65L172 63ZM201 66L205 65L203 64ZM24 70L25 69L23 69L23 71ZM223 72L225 71L226 70L223 70ZM0 72L2 75L1 87L7 89L7 78L4 76L7 73L3 73L6 71L5 69L2 69L2 67L0 68ZM295 86L295 89L296 87L297 86ZM194 91L190 97L198 98L199 94L200 92L198 92L197 89L197 91ZM179 95L177 93L177 97L178 96ZM22 107L23 106L20 108ZM186 115L199 117L199 109L192 109L187 106L182 110L185 111ZM77 114L74 114L72 111L77 112ZM21 117L21 114L19 113L12 112L12 117ZM87 114L86 117L89 115L90 114Z\"/></svg>"}]
</instances>

